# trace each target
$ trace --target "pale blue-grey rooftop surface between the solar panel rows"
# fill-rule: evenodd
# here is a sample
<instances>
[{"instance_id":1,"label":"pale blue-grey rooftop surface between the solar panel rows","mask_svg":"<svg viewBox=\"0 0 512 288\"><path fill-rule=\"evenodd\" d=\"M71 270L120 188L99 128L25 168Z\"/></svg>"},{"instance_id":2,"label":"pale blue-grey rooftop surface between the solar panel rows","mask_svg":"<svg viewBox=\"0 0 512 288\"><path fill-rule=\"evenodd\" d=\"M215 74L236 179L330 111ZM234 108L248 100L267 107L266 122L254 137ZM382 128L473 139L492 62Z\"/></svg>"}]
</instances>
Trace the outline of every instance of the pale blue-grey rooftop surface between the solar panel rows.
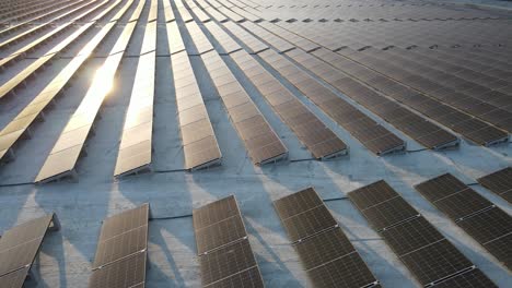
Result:
<instances>
[{"instance_id":1,"label":"pale blue-grey rooftop surface between the solar panel rows","mask_svg":"<svg viewBox=\"0 0 512 288\"><path fill-rule=\"evenodd\" d=\"M136 3L138 1L136 0ZM196 260L197 250L190 217L191 211L230 194L236 195L238 201L265 285L267 287L307 287L310 284L305 272L298 254L289 243L284 229L272 207L272 201L307 187L314 187L323 199L341 197L356 188L381 179L386 180L497 285L510 287L512 281L510 272L412 188L414 184L444 172L451 172L466 183L474 183L481 176L512 165L512 146L509 143L486 147L461 136L461 144L457 148L447 151L422 149L419 143L402 131L340 92L336 92L339 97L353 104L407 143L407 152L376 156L323 113L317 106L287 83L277 72L272 71L301 103L306 105L349 146L348 156L328 161L312 160L310 152L270 109L264 97L245 79L243 72L229 56L222 56L289 149L288 159L258 167L253 165L248 158L200 57L191 56L194 72L198 79L222 153L222 165L194 172L184 171L184 152L176 117L173 72L168 56L170 39L167 39L164 24L163 4L166 1L168 0L158 0L161 9L158 11L158 60L152 135L153 171L119 179L113 178L150 0L147 0L141 20L139 20L125 53L114 88L102 105L100 118L95 120L95 134L86 142L88 156L78 163L79 181L63 179L58 182L33 184L60 132L84 97L94 72L105 61L105 57L123 31L123 23L129 19L136 4L128 9L119 24L102 41L94 56L72 81L72 85L57 99L51 109L45 112L45 121L31 127L32 139L19 143L15 148L15 160L0 167L0 231L51 212L58 215L61 223L60 231L46 237L38 261L33 267L42 276L38 287L86 287L102 220L107 216L147 202L151 205L153 217L175 217L150 221L149 260L151 268L147 273L147 287L198 287L200 286L200 272ZM194 44L190 36L186 33L175 2L171 2L185 45L188 50L191 50ZM183 2L189 5L194 1L184 0ZM229 0L219 2L228 3ZM277 17L281 21L311 19L312 22L303 22L300 25L324 25L333 31L331 37L337 37L337 29L348 29L357 26L358 23L364 25L363 20L368 17L374 16L375 20L387 17L393 21L395 17L408 19L409 14L427 15L442 12L443 15L450 16L450 13L455 13L454 11L468 15L481 14L482 17L499 17L499 20L467 20L467 22L476 27L490 27L489 31L492 31L493 25L499 24L500 27L505 28L504 33L508 32L509 36L512 32L512 12L489 9L484 5L468 7L462 4L461 1L449 3L419 0L315 0L313 2L303 0L240 0L240 2L258 4L261 12L259 16L264 22ZM485 1L478 1L478 3L480 2ZM419 3L428 3L428 5L418 5ZM493 3L494 1L489 1L485 4ZM340 7L336 8L337 4ZM381 4L383 5L381 7ZM272 7L263 8L268 5ZM283 7L279 8L280 5ZM435 9L435 11L431 12L429 9ZM322 19L327 20L327 22L319 22ZM346 21L335 22L335 19ZM350 19L360 22L347 24ZM195 21L203 27L197 19ZM441 21L433 20L429 23L437 22ZM451 23L458 25L458 23L455 24L455 21L445 23L446 29L451 28ZM407 23L404 23L404 27L407 27ZM44 72L38 72L36 77L31 79L27 86L20 89L15 97L1 99L0 129L4 128L77 56L80 48L100 28L101 25L94 27L86 36L73 43L67 51L54 59L51 65L47 67ZM0 85L34 62L48 48L62 40L72 29L30 51L24 59L9 67L0 74ZM368 32L371 33L372 27L369 26ZM36 35L32 36L25 43L30 43L36 37ZM417 38L420 37L422 35L417 35ZM414 40L412 37L411 45L415 44ZM25 43L22 41L9 49L2 49L0 57L9 56ZM497 40L497 43L481 45L496 46L499 44ZM510 46L507 45L511 44L511 38L503 39L502 44L504 51L510 52ZM393 45L393 40L389 45ZM432 45L443 46L444 43L440 40L440 43L432 43ZM359 49L360 47L354 44L350 48ZM261 61L258 57L255 58ZM329 88L331 87L329 86ZM503 199L480 185L473 188L509 214L512 213L512 206ZM369 226L350 201L337 200L326 202L326 204L384 287L419 287L414 276Z\"/></svg>"}]
</instances>

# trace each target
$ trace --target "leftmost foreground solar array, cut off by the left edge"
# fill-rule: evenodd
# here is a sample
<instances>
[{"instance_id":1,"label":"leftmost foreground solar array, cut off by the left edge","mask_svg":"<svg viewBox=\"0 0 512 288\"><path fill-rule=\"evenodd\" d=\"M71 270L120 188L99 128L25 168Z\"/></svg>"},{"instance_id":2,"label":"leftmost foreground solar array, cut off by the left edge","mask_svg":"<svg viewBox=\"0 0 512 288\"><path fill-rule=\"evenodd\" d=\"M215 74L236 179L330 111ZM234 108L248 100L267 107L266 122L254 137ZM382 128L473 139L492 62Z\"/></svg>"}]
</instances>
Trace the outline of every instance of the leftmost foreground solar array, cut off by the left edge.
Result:
<instances>
[{"instance_id":1,"label":"leftmost foreground solar array, cut off by the left edge","mask_svg":"<svg viewBox=\"0 0 512 288\"><path fill-rule=\"evenodd\" d=\"M60 229L57 215L46 215L5 231L0 238L0 286L21 288L47 231Z\"/></svg>"}]
</instances>

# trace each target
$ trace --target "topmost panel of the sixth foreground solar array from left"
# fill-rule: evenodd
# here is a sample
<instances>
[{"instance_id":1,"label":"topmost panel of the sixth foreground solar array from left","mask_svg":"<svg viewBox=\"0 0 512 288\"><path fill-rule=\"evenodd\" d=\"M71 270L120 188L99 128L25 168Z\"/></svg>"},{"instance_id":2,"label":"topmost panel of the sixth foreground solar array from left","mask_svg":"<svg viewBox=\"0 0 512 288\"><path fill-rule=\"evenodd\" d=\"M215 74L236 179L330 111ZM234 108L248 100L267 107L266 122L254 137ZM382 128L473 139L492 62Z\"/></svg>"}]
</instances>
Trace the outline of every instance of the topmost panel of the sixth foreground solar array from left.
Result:
<instances>
[{"instance_id":1,"label":"topmost panel of the sixth foreground solar array from left","mask_svg":"<svg viewBox=\"0 0 512 288\"><path fill-rule=\"evenodd\" d=\"M467 189L467 185L451 173L438 176L415 185L415 189L430 202Z\"/></svg>"}]
</instances>

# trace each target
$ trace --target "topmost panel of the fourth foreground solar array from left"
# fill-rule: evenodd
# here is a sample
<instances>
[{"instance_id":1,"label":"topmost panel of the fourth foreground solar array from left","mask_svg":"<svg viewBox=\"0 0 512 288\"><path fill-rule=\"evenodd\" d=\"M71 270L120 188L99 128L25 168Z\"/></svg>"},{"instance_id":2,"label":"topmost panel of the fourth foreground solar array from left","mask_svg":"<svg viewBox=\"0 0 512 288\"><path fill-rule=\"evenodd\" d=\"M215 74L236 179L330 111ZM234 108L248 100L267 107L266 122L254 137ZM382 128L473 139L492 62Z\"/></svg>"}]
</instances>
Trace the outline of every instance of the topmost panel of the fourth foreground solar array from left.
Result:
<instances>
[{"instance_id":1,"label":"topmost panel of the fourth foreground solar array from left","mask_svg":"<svg viewBox=\"0 0 512 288\"><path fill-rule=\"evenodd\" d=\"M304 189L274 202L274 206L282 220L323 204L324 202L313 188Z\"/></svg>"}]
</instances>

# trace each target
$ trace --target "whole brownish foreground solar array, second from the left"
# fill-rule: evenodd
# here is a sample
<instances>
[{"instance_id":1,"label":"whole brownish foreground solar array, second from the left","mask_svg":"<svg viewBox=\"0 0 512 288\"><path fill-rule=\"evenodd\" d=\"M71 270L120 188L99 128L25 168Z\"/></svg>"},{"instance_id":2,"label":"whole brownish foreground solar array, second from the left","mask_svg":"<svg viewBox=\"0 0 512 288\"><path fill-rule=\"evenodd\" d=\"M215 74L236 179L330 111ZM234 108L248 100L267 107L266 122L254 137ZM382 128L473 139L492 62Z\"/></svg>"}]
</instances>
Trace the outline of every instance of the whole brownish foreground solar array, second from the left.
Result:
<instances>
[{"instance_id":1,"label":"whole brownish foreground solar array, second from the left","mask_svg":"<svg viewBox=\"0 0 512 288\"><path fill-rule=\"evenodd\" d=\"M103 221L90 288L144 287L149 213L143 204Z\"/></svg>"}]
</instances>

